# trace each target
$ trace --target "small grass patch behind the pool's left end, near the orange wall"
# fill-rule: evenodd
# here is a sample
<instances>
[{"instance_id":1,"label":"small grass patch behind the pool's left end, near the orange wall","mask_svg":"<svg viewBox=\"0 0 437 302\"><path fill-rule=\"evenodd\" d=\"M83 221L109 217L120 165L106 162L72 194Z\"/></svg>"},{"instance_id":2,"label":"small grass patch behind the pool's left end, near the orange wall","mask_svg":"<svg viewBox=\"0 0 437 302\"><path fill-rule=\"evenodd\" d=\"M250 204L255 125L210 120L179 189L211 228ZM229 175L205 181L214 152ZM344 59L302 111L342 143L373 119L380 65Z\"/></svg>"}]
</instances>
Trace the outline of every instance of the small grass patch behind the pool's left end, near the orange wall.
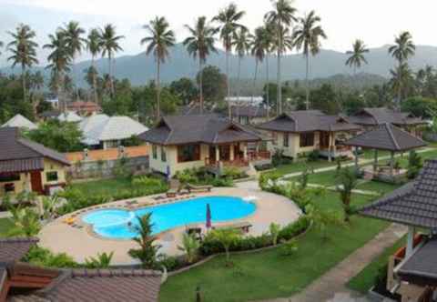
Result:
<instances>
[{"instance_id":1,"label":"small grass patch behind the pool's left end, near the orange wall","mask_svg":"<svg viewBox=\"0 0 437 302\"><path fill-rule=\"evenodd\" d=\"M85 195L114 195L117 191L132 188L130 180L119 178L99 179L84 183L76 183L71 185L71 187L80 190Z\"/></svg>"}]
</instances>

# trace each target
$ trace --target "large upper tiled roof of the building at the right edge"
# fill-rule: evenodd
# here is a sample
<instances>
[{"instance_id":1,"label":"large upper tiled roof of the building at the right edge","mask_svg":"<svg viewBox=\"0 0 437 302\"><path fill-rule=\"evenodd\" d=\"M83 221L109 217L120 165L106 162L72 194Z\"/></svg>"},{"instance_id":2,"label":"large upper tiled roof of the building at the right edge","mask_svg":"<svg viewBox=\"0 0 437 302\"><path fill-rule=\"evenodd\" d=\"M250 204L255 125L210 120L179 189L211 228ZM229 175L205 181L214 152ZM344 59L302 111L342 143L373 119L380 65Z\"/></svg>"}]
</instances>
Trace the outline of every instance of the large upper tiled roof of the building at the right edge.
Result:
<instances>
[{"instance_id":1,"label":"large upper tiled roof of the building at the right edge","mask_svg":"<svg viewBox=\"0 0 437 302\"><path fill-rule=\"evenodd\" d=\"M359 213L405 225L437 227L437 160L429 160L410 184L391 192Z\"/></svg>"}]
</instances>

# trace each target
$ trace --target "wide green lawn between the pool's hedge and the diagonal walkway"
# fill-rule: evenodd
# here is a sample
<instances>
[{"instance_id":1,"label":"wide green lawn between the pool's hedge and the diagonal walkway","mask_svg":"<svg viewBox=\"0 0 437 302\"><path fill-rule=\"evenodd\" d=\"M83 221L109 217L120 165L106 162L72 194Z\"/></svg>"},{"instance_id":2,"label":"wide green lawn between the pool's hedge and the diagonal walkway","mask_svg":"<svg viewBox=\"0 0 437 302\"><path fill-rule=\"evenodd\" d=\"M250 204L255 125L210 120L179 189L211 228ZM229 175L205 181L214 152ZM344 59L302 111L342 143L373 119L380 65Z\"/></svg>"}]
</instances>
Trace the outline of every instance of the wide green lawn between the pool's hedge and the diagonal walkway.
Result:
<instances>
[{"instance_id":1,"label":"wide green lawn between the pool's hedge and the diagonal walkway","mask_svg":"<svg viewBox=\"0 0 437 302\"><path fill-rule=\"evenodd\" d=\"M327 192L315 200L323 210L342 213L338 194ZM369 197L354 195L354 205L369 203ZM354 250L371 240L388 223L351 217L350 226L329 226L328 241L319 231L311 229L298 241L298 251L290 257L280 255L280 247L256 254L235 255L234 268L224 267L224 257L175 277L161 287L160 301L193 301L195 289L200 286L205 302L230 302L289 297L311 281L320 277L330 267L338 264Z\"/></svg>"}]
</instances>

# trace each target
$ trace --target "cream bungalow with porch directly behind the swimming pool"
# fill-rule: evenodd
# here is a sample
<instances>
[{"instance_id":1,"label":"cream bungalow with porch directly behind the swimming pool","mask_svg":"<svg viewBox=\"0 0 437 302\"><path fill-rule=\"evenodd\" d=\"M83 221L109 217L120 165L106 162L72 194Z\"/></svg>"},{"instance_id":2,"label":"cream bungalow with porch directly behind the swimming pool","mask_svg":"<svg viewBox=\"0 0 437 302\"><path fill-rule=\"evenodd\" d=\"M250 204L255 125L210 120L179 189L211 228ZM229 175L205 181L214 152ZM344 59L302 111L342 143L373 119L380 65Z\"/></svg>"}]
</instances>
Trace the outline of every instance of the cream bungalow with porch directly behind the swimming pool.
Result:
<instances>
[{"instance_id":1,"label":"cream bungalow with porch directly behind the swimming pool","mask_svg":"<svg viewBox=\"0 0 437 302\"><path fill-rule=\"evenodd\" d=\"M222 166L249 167L269 160L269 152L259 152L259 134L214 115L165 116L139 138L152 146L150 168L167 176L193 167L214 172Z\"/></svg>"}]
</instances>

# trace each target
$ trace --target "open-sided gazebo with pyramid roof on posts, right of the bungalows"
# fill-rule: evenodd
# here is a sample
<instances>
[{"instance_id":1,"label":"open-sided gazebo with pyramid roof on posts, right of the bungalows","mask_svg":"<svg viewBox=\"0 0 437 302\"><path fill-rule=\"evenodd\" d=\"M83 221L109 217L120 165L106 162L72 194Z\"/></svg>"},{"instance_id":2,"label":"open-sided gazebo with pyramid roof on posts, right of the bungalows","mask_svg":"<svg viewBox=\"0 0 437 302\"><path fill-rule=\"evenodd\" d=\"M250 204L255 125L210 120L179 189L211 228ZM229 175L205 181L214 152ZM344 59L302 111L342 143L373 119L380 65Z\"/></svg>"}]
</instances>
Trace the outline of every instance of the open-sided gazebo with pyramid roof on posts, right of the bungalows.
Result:
<instances>
[{"instance_id":1,"label":"open-sided gazebo with pyramid roof on posts, right of the bungalows","mask_svg":"<svg viewBox=\"0 0 437 302\"><path fill-rule=\"evenodd\" d=\"M426 146L422 139L412 136L406 131L401 130L397 126L391 124L383 124L373 130L362 133L359 136L343 142L345 146L355 147L355 168L359 171L358 165L358 148L373 149L374 161L372 176L374 178L383 178L384 180L395 180L394 175L394 154L410 151L415 148ZM387 168L378 167L378 150L389 151L390 164ZM399 174L399 172L398 172Z\"/></svg>"}]
</instances>

